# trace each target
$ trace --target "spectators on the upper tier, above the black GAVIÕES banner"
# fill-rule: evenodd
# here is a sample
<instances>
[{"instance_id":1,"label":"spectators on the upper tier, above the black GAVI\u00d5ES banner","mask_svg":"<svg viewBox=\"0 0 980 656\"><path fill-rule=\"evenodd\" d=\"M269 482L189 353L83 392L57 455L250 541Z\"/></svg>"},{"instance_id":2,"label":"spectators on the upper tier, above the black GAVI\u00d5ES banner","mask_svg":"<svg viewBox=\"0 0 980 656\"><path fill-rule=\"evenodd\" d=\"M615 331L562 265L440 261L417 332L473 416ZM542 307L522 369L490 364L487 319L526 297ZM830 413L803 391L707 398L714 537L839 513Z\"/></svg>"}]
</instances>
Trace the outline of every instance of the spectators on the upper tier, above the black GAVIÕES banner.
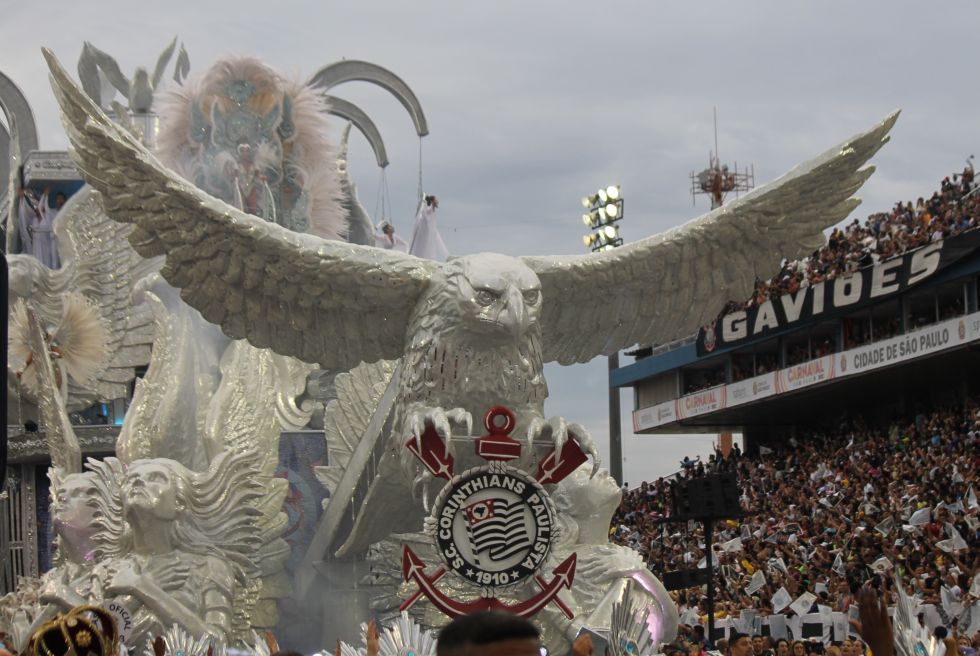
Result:
<instances>
[{"instance_id":1,"label":"spectators on the upper tier, above the black GAVI\u00d5ES banner","mask_svg":"<svg viewBox=\"0 0 980 656\"><path fill-rule=\"evenodd\" d=\"M980 194L968 165L947 176L928 200L898 202L890 212L878 212L862 224L858 219L843 229L834 228L827 244L809 257L784 259L779 273L756 281L744 303L731 301L722 314L756 307L770 298L792 294L810 285L832 280L895 255L958 235L980 224Z\"/></svg>"}]
</instances>

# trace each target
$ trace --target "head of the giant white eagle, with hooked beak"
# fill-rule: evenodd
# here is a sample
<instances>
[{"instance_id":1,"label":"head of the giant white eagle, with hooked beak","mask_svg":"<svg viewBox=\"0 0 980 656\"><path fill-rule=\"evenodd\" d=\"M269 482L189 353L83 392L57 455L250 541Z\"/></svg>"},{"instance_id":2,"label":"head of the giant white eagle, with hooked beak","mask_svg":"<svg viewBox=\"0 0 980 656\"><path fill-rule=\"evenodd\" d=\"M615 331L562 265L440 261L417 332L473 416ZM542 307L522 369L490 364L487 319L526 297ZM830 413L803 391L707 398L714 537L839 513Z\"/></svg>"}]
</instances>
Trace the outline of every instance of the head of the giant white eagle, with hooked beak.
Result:
<instances>
[{"instance_id":1,"label":"head of the giant white eagle, with hooked beak","mask_svg":"<svg viewBox=\"0 0 980 656\"><path fill-rule=\"evenodd\" d=\"M520 260L481 253L461 257L452 264L461 268L460 314L475 334L521 338L537 327L541 282Z\"/></svg>"}]
</instances>

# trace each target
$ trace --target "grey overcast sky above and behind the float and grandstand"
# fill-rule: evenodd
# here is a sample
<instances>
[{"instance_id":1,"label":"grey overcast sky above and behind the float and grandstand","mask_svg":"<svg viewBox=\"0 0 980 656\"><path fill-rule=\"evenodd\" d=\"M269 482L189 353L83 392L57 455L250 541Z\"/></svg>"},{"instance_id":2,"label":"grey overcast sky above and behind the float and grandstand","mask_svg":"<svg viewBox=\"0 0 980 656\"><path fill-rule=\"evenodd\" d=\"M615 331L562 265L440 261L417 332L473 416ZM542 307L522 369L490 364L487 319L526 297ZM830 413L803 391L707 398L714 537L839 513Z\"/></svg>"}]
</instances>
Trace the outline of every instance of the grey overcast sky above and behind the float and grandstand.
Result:
<instances>
[{"instance_id":1,"label":"grey overcast sky above and behind the float and grandstand","mask_svg":"<svg viewBox=\"0 0 980 656\"><path fill-rule=\"evenodd\" d=\"M89 40L127 74L152 67L174 35L192 73L227 54L256 55L303 79L341 58L393 70L425 109L424 186L440 197L456 254L582 252L579 200L610 183L623 188L627 241L705 212L706 199L692 205L688 174L713 148L712 107L722 160L754 164L757 184L901 108L859 194L862 218L930 194L980 150L974 0L4 5L0 70L32 104L43 149L63 149L66 139L42 45L74 70ZM391 218L410 233L419 142L407 114L367 84L333 92L380 126ZM380 176L360 137L349 166L373 212ZM547 411L583 422L604 445L605 361L551 365L548 375ZM629 435L632 393L622 397L630 482L703 452L704 438Z\"/></svg>"}]
</instances>

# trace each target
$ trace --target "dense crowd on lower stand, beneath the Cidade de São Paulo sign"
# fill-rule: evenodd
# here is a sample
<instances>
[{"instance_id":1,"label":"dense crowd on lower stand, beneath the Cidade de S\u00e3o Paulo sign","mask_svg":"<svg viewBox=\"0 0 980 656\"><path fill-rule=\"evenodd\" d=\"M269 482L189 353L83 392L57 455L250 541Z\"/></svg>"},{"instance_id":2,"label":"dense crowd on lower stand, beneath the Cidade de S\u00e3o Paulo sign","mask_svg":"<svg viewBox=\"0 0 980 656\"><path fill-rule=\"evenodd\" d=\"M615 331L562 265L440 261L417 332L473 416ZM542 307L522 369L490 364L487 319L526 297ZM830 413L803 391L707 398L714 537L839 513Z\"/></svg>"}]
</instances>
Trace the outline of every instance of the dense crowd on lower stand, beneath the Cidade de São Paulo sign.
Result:
<instances>
[{"instance_id":1,"label":"dense crowd on lower stand, beneath the Cidade de S\u00e3o Paulo sign","mask_svg":"<svg viewBox=\"0 0 980 656\"><path fill-rule=\"evenodd\" d=\"M980 410L920 413L879 429L858 422L759 451L685 459L678 474L737 472L747 516L715 526L717 617L771 614L780 588L846 611L863 583L880 576L887 589L898 573L914 603L963 604L969 624L980 596ZM658 575L705 564L700 524L660 521L669 514L669 487L658 479L629 490L610 528ZM759 571L765 585L749 594ZM672 594L682 615L706 620L702 589ZM945 615L961 607L953 608Z\"/></svg>"}]
</instances>

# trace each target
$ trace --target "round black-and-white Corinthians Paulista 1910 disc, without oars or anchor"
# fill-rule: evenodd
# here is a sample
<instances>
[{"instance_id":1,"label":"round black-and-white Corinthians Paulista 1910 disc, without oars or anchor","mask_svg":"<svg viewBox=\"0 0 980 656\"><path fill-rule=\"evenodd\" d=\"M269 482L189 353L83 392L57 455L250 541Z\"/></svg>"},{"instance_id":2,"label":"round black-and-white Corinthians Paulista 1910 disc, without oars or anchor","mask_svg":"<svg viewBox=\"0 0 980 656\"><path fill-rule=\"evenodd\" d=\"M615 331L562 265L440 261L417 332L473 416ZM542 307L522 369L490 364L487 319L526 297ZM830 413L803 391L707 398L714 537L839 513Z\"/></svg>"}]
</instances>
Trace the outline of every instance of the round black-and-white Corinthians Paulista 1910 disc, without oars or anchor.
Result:
<instances>
[{"instance_id":1,"label":"round black-and-white Corinthians Paulista 1910 disc, without oars or anchor","mask_svg":"<svg viewBox=\"0 0 980 656\"><path fill-rule=\"evenodd\" d=\"M536 480L502 464L468 469L432 509L446 566L470 583L500 587L533 576L551 551L555 510Z\"/></svg>"}]
</instances>

